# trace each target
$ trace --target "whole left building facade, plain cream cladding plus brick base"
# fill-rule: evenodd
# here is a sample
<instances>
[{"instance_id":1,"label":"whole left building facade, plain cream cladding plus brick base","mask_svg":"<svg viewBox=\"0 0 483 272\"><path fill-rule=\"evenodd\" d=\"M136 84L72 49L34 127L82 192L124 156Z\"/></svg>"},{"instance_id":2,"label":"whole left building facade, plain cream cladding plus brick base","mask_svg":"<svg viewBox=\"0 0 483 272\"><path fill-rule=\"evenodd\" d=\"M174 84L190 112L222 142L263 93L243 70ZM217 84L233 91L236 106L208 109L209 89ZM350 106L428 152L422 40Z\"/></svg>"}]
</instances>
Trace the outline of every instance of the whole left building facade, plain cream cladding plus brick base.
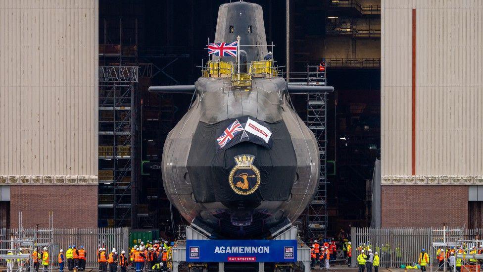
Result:
<instances>
[{"instance_id":1,"label":"whole left building facade, plain cream cladding plus brick base","mask_svg":"<svg viewBox=\"0 0 483 272\"><path fill-rule=\"evenodd\" d=\"M97 18L97 0L0 1L1 227L97 226Z\"/></svg>"}]
</instances>

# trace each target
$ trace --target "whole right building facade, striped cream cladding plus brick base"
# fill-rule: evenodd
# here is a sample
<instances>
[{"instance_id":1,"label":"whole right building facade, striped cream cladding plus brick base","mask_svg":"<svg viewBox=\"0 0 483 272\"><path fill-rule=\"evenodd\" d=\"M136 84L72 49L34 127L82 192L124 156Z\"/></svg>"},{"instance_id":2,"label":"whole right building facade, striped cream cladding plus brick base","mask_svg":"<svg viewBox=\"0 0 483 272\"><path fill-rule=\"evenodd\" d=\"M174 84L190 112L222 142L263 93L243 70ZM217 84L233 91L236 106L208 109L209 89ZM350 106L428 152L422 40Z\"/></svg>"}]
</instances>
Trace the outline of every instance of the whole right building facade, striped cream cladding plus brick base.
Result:
<instances>
[{"instance_id":1,"label":"whole right building facade, striped cream cladding plus brick base","mask_svg":"<svg viewBox=\"0 0 483 272\"><path fill-rule=\"evenodd\" d=\"M483 3L381 4L381 225L482 227Z\"/></svg>"}]
</instances>

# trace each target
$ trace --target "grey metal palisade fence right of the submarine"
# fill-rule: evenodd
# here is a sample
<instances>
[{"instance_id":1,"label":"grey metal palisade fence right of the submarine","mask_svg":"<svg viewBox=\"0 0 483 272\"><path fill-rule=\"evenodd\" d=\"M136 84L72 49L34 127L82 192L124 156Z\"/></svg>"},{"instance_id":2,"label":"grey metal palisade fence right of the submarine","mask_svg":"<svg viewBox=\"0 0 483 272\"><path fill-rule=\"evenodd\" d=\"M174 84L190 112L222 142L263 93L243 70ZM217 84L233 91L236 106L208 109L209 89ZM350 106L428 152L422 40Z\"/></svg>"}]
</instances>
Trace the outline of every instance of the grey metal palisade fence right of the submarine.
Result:
<instances>
[{"instance_id":1,"label":"grey metal palisade fence right of the submarine","mask_svg":"<svg viewBox=\"0 0 483 272\"><path fill-rule=\"evenodd\" d=\"M483 229L446 231L445 241L473 240L482 233ZM381 267L385 268L417 263L422 248L426 249L433 263L436 255L433 243L442 241L443 231L431 228L351 228L351 265L357 266L357 256L364 248L378 252Z\"/></svg>"}]
</instances>

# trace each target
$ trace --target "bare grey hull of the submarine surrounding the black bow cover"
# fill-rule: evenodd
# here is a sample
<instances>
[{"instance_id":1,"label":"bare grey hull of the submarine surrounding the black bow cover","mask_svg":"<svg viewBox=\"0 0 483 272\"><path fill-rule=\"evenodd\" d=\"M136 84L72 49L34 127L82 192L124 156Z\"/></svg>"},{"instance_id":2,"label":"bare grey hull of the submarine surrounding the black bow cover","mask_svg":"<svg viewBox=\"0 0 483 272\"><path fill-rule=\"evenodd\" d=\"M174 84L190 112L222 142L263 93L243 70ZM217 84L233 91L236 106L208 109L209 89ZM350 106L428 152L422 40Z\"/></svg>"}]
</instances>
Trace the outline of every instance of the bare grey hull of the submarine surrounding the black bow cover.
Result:
<instances>
[{"instance_id":1,"label":"bare grey hull of the submarine surrounding the black bow cover","mask_svg":"<svg viewBox=\"0 0 483 272\"><path fill-rule=\"evenodd\" d=\"M187 162L190 149L196 144L193 134L200 121L214 124L244 115L267 123L282 120L290 133L297 160L296 178L291 181L291 197L285 201L262 201L260 206L249 212L270 215L266 220L284 222L288 219L293 222L312 201L320 169L317 142L313 133L291 109L285 86L282 78L255 78L249 89L232 88L226 78L198 79L196 101L169 133L162 158L166 194L189 222L195 218L213 220L216 218L213 215L229 210L222 203L196 203L193 198L192 193L196 188L190 181Z\"/></svg>"}]
</instances>

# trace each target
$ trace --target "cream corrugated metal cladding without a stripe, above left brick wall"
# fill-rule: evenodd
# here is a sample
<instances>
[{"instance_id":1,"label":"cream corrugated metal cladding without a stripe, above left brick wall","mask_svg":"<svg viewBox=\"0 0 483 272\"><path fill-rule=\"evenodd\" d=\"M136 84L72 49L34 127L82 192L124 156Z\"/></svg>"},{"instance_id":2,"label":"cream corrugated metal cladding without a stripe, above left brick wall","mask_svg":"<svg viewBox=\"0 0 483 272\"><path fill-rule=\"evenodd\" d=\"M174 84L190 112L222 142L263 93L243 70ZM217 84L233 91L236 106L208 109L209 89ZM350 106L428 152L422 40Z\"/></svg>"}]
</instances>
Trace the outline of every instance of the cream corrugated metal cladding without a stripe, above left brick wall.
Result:
<instances>
[{"instance_id":1,"label":"cream corrugated metal cladding without a stripe, above left brick wall","mask_svg":"<svg viewBox=\"0 0 483 272\"><path fill-rule=\"evenodd\" d=\"M0 175L97 176L97 0L0 1Z\"/></svg>"}]
</instances>

